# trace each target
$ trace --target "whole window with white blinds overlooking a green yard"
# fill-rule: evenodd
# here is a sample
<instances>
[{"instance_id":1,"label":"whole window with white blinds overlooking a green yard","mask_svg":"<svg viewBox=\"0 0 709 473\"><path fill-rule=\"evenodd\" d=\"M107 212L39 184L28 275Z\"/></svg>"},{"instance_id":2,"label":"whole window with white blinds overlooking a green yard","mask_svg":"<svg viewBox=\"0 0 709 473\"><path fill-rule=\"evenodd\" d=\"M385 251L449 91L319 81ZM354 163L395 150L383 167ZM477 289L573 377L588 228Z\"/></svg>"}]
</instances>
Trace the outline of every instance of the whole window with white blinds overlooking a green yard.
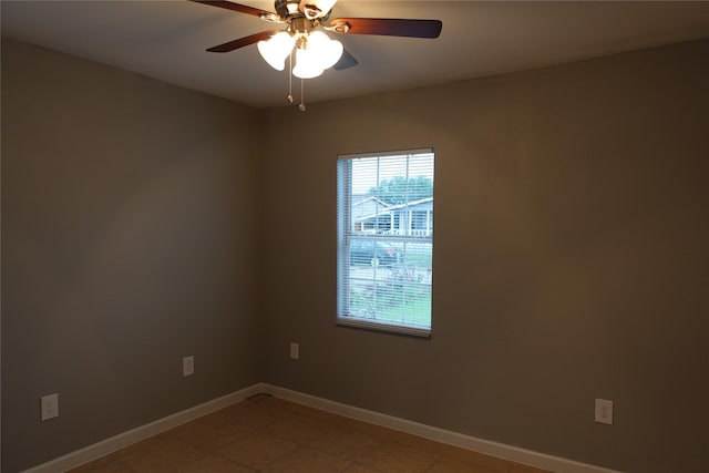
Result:
<instances>
[{"instance_id":1,"label":"whole window with white blinds overlooking a green yard","mask_svg":"<svg viewBox=\"0 0 709 473\"><path fill-rule=\"evenodd\" d=\"M432 150L338 160L339 325L428 337Z\"/></svg>"}]
</instances>

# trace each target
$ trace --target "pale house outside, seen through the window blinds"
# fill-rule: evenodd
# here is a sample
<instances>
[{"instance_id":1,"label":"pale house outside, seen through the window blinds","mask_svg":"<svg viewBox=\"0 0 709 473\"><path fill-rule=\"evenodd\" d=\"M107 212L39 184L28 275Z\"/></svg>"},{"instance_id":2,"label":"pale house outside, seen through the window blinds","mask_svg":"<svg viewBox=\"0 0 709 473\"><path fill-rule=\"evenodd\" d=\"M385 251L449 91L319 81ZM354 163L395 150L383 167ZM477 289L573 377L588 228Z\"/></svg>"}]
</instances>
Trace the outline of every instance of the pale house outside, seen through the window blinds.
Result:
<instances>
[{"instance_id":1,"label":"pale house outside, seen through the window blinds","mask_svg":"<svg viewBox=\"0 0 709 473\"><path fill-rule=\"evenodd\" d=\"M433 197L356 215L352 220L359 232L429 237L433 235Z\"/></svg>"}]
</instances>

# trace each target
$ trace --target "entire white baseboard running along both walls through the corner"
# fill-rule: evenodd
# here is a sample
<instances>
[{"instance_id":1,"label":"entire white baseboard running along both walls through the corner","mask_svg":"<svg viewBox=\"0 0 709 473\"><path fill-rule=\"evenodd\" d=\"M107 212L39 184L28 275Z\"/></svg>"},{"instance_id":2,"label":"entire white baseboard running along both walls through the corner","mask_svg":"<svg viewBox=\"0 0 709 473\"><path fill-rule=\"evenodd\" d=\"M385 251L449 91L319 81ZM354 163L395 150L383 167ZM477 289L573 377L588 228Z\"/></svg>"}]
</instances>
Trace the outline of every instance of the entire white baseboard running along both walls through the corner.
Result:
<instances>
[{"instance_id":1,"label":"entire white baseboard running along both walls through the corner","mask_svg":"<svg viewBox=\"0 0 709 473\"><path fill-rule=\"evenodd\" d=\"M489 440L477 439L462 433L452 432L431 425L412 422L405 419L382 414L367 409L356 408L348 404L330 401L328 399L305 394L298 391L279 388L268 383L256 383L248 388L233 392L230 394L205 402L204 404L186 409L182 412L160 419L155 422L142 425L140 428L123 432L93 445L71 452L64 456L25 470L24 473L56 473L81 466L84 463L96 460L101 456L115 452L116 450L129 446L141 440L175 428L185 422L206 415L219 409L227 408L244 401L255 394L266 393L287 401L297 402L321 411L331 412L333 414L343 415L351 419L369 422L372 424L398 430L400 432L423 436L436 442L448 443L450 445L460 446L461 449L471 450L479 453L496 456L499 459L508 460L515 463L522 463L530 466L536 466L558 473L620 473L615 470L608 470L602 466L589 465L586 463L566 460L558 456L547 455L531 450L520 449L503 443L492 442Z\"/></svg>"}]
</instances>

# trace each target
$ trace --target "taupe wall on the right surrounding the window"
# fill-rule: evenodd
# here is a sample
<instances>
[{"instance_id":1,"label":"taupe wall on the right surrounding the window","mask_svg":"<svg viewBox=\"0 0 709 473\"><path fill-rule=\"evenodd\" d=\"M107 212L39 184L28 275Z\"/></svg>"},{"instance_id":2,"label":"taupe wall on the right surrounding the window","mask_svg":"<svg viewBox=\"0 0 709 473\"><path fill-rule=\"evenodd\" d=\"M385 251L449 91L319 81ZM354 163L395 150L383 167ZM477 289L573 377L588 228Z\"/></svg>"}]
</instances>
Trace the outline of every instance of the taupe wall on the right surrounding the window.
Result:
<instances>
[{"instance_id":1,"label":"taupe wall on the right surrounding the window","mask_svg":"<svg viewBox=\"0 0 709 473\"><path fill-rule=\"evenodd\" d=\"M320 138L267 153L264 245L299 230L265 254L285 269L261 284L261 377L582 462L705 471L706 58L709 41L271 110L267 128ZM433 336L336 327L336 156L425 146Z\"/></svg>"}]
</instances>

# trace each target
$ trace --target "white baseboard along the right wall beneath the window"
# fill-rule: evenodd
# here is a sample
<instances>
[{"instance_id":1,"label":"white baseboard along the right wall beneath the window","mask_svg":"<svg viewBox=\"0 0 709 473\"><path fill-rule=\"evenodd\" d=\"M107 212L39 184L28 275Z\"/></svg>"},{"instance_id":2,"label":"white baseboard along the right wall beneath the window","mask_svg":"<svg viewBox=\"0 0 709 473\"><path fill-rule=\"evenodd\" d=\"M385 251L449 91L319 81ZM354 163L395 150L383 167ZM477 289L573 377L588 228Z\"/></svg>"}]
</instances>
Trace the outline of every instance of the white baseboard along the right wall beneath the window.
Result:
<instances>
[{"instance_id":1,"label":"white baseboard along the right wall beneath the window","mask_svg":"<svg viewBox=\"0 0 709 473\"><path fill-rule=\"evenodd\" d=\"M496 456L499 459L508 460L515 463L522 463L538 469L548 470L558 473L620 473L615 470L608 470L602 466L589 465L573 460L562 459L559 456L547 455L534 452L532 450L520 449L517 446L506 445L504 443L492 442L489 440L477 439L462 433L452 432L434 428L431 425L412 422L405 419L382 414L367 409L354 408L348 404L330 401L310 394L304 394L298 391L291 391L271 384L261 384L261 392L271 394L276 398L287 401L297 402L319 409L321 411L331 412L333 414L343 415L351 419L369 422L372 424L398 430L400 432L423 436L436 442L446 443L449 445L460 446L461 449L471 450L477 453Z\"/></svg>"}]
</instances>

